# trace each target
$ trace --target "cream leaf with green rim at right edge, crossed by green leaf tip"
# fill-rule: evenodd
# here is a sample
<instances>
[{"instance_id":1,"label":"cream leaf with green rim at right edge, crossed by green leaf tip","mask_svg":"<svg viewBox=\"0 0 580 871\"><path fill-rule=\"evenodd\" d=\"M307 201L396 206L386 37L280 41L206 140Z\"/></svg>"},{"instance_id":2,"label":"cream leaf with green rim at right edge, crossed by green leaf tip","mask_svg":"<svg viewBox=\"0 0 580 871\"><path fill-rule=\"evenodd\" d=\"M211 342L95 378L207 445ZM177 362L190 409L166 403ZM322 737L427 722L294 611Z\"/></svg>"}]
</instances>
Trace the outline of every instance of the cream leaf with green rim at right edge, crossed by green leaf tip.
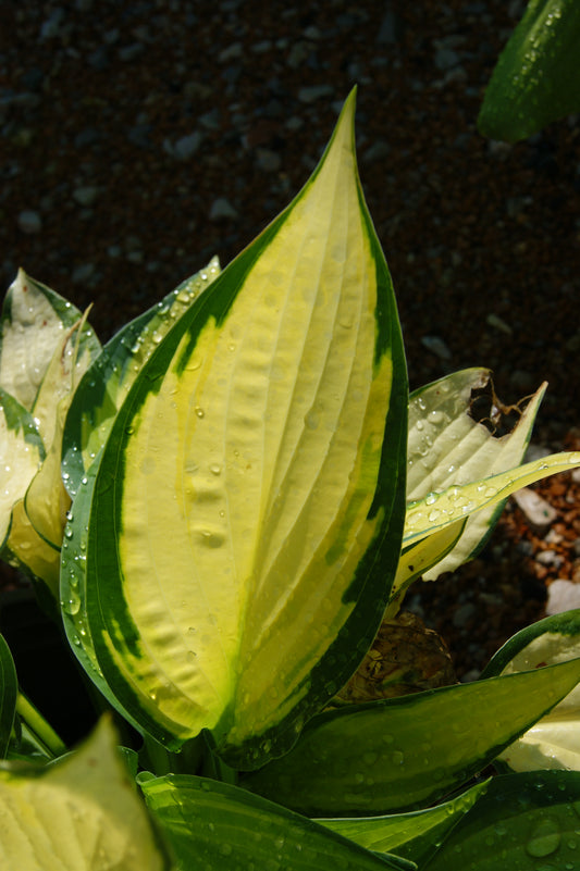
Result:
<instances>
[{"instance_id":1,"label":"cream leaf with green rim at right edge, crossed by green leaf tip","mask_svg":"<svg viewBox=\"0 0 580 871\"><path fill-rule=\"evenodd\" d=\"M547 617L514 635L489 662L482 676L514 674L580 656L580 609ZM535 723L499 759L514 771L580 771L580 688Z\"/></svg>"}]
</instances>

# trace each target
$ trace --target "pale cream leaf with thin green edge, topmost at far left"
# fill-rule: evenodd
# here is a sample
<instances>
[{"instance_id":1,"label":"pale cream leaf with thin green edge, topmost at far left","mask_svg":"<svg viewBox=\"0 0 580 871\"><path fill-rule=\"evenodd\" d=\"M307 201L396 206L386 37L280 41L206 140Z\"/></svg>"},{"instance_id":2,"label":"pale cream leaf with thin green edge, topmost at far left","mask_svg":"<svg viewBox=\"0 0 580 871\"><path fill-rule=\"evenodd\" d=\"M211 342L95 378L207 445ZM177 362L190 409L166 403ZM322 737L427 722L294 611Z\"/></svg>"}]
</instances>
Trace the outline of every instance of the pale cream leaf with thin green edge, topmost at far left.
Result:
<instances>
[{"instance_id":1,"label":"pale cream leaf with thin green edge, topmost at far left","mask_svg":"<svg viewBox=\"0 0 580 871\"><path fill-rule=\"evenodd\" d=\"M28 411L54 349L79 319L81 312L71 302L18 270L2 308L0 386ZM84 327L79 359L85 351L95 356L99 350L95 334Z\"/></svg>"}]
</instances>

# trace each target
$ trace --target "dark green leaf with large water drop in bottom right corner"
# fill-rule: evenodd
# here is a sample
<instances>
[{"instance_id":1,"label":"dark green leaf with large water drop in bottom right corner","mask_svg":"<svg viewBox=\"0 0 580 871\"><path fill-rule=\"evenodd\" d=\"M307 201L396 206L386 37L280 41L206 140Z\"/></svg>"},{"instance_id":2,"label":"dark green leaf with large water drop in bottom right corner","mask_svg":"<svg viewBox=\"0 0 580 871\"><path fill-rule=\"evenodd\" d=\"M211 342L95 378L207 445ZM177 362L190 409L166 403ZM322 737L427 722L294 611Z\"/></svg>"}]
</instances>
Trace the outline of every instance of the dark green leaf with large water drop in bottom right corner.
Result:
<instances>
[{"instance_id":1,"label":"dark green leaf with large water drop in bottom right corner","mask_svg":"<svg viewBox=\"0 0 580 871\"><path fill-rule=\"evenodd\" d=\"M424 871L573 871L580 774L534 771L490 781Z\"/></svg>"}]
</instances>

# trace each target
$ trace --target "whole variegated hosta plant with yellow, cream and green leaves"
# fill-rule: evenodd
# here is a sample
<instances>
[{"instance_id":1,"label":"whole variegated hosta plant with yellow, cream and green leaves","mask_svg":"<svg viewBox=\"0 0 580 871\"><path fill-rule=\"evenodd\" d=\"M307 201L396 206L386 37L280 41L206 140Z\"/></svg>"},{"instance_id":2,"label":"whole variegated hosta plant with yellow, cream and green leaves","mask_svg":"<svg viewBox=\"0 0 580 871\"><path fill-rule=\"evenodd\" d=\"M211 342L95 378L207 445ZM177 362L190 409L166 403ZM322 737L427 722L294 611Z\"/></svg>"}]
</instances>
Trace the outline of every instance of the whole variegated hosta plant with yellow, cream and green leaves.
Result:
<instances>
[{"instance_id":1,"label":"whole variegated hosta plant with yellow, cream and green leaves","mask_svg":"<svg viewBox=\"0 0 580 871\"><path fill-rule=\"evenodd\" d=\"M485 370L409 397L353 117L354 95L236 260L103 348L24 272L9 290L2 552L134 731L120 757L104 714L69 754L0 644L2 868L573 861L580 773L558 730L576 718L577 612L472 684L387 698L430 684L412 657L374 668L409 584L469 559L511 492L580 455L523 463L543 386L502 438L473 413L488 389L498 414Z\"/></svg>"}]
</instances>

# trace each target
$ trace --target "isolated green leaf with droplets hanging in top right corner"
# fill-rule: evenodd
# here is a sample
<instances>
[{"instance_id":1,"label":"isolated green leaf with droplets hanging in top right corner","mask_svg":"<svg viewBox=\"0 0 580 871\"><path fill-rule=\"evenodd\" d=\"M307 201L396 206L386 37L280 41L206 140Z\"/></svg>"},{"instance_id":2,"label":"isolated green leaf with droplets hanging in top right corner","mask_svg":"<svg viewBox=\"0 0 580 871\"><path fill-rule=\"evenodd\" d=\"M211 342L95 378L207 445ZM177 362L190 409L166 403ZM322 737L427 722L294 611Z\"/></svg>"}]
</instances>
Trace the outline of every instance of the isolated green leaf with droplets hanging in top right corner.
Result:
<instances>
[{"instance_id":1,"label":"isolated green leaf with droplets hanging in top right corner","mask_svg":"<svg viewBox=\"0 0 580 871\"><path fill-rule=\"evenodd\" d=\"M517 142L580 110L580 7L577 0L530 0L499 55L478 127Z\"/></svg>"}]
</instances>

